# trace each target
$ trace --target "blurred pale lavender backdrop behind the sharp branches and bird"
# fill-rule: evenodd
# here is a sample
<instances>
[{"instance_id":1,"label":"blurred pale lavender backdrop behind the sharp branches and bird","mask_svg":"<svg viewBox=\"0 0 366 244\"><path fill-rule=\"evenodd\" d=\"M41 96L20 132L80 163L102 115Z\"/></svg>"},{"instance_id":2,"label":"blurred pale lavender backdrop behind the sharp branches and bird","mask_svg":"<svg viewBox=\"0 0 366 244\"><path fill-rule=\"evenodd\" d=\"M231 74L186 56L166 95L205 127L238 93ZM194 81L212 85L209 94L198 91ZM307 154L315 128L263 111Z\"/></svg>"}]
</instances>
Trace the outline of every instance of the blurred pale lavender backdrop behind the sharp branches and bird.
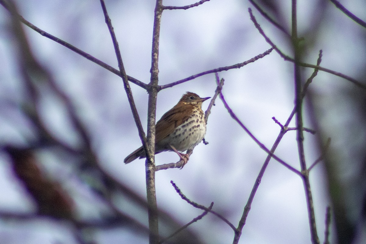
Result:
<instances>
[{"instance_id":1,"label":"blurred pale lavender backdrop behind the sharp branches and bird","mask_svg":"<svg viewBox=\"0 0 366 244\"><path fill-rule=\"evenodd\" d=\"M117 68L100 2L15 1L33 25ZM192 1L164 0L183 6ZM106 0L127 75L150 79L154 1ZM258 1L291 33L291 1ZM344 1L366 20L366 2ZM248 7L271 40L292 56L288 36L249 1L209 1L189 10L165 10L161 19L159 84L242 63L270 48L255 29ZM302 60L365 81L366 28L330 1L298 1ZM11 15L0 7L0 243L147 243L145 164L123 159L141 146L122 79L22 24L21 39ZM27 50L27 45L30 51ZM30 64L31 63L31 64ZM275 51L240 69L219 73L223 94L247 128L270 148L294 108L293 64ZM313 69L302 68L306 81ZM147 92L131 84L146 131ZM212 97L214 74L161 90L157 119L191 91ZM330 243L366 242L365 89L320 71L304 102L306 162L324 161L310 172L315 217L324 241L326 207L331 207ZM209 102L203 104L205 110ZM79 124L75 124L79 121ZM294 121L290 127L294 127ZM329 149L324 152L327 138ZM234 226L242 215L266 153L216 100L208 119L208 145L195 147L182 170L156 172L163 212L160 233L168 236L202 213L183 194L209 206ZM275 153L300 169L296 132ZM157 164L178 161L156 155ZM71 214L70 214L71 213ZM71 215L71 216L70 216ZM70 218L73 221L70 221ZM75 221L75 219L77 221ZM310 243L302 180L271 160L255 195L239 243ZM188 227L181 243L232 243L234 233L212 214ZM183 239L183 238L187 238ZM179 243L179 239L177 238Z\"/></svg>"}]
</instances>

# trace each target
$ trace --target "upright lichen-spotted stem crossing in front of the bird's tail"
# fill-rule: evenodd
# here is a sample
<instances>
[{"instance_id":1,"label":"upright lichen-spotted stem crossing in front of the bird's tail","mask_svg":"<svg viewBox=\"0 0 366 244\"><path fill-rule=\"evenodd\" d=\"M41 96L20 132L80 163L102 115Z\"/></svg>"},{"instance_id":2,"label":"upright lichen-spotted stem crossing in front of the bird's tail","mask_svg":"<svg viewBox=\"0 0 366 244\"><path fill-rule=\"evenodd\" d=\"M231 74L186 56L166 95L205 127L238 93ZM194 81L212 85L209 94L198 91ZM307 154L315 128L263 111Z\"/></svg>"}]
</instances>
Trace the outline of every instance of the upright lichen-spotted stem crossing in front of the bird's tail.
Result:
<instances>
[{"instance_id":1,"label":"upright lichen-spotted stem crossing in front of the bird's tail","mask_svg":"<svg viewBox=\"0 0 366 244\"><path fill-rule=\"evenodd\" d=\"M156 100L158 93L158 57L159 57L159 37L160 21L163 12L163 0L157 0L154 10L153 45L151 53L150 83L147 92L149 93L149 103L147 108L147 144L149 152L146 155L146 195L149 216L149 243L159 242L158 214L155 191L155 121L156 121Z\"/></svg>"}]
</instances>

